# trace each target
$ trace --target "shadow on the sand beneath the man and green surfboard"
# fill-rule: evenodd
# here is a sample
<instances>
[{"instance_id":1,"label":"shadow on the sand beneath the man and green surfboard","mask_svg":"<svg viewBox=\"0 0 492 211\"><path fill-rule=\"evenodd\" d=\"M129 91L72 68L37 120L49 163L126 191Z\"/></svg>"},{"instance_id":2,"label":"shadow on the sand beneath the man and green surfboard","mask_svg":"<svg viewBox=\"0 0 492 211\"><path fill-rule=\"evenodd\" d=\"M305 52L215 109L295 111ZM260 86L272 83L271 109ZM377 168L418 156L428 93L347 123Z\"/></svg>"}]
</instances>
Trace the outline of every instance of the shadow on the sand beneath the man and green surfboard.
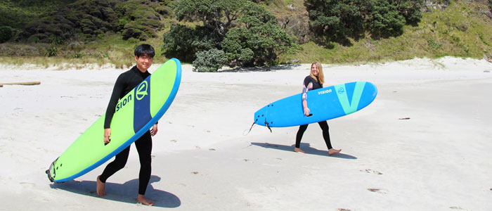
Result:
<instances>
[{"instance_id":1,"label":"shadow on the sand beneath the man and green surfboard","mask_svg":"<svg viewBox=\"0 0 492 211\"><path fill-rule=\"evenodd\" d=\"M154 189L153 186L150 185L156 181L160 181L160 177L155 175L150 177L145 198L155 201L155 207L179 207L181 205L181 200L179 200L176 195ZM66 181L64 183L50 184L50 186L55 189L99 198L96 193L96 181ZM137 191L138 179L132 179L124 184L106 182L106 196L103 199L124 203L136 203Z\"/></svg>"}]
</instances>

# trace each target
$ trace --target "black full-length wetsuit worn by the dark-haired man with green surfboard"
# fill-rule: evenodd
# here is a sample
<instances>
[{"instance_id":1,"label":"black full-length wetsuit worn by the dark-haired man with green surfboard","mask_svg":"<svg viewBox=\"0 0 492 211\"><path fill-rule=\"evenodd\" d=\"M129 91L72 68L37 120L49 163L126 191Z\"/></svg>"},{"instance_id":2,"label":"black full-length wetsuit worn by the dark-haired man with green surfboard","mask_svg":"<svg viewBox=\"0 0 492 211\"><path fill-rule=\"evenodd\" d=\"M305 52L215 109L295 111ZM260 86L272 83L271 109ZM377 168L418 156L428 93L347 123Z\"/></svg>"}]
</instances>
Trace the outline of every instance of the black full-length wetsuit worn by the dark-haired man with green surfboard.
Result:
<instances>
[{"instance_id":1,"label":"black full-length wetsuit worn by the dark-haired man with green surfboard","mask_svg":"<svg viewBox=\"0 0 492 211\"><path fill-rule=\"evenodd\" d=\"M115 82L115 88L112 90L110 103L106 110L106 117L104 121L104 128L110 128L112 116L115 114L115 107L120 98L127 95L138 84L143 82L145 78L150 75L148 71L141 72L134 66L127 72L123 72L119 75ZM138 194L144 195L145 190L150 180L150 153L152 152L152 138L150 132L145 132L139 139L135 141L136 151L138 152L138 158L140 159L140 173L138 174ZM110 162L103 171L103 174L99 177L102 182L106 182L108 177L121 170L124 165L127 164L128 155L130 153L130 146L115 156L115 160Z\"/></svg>"}]
</instances>

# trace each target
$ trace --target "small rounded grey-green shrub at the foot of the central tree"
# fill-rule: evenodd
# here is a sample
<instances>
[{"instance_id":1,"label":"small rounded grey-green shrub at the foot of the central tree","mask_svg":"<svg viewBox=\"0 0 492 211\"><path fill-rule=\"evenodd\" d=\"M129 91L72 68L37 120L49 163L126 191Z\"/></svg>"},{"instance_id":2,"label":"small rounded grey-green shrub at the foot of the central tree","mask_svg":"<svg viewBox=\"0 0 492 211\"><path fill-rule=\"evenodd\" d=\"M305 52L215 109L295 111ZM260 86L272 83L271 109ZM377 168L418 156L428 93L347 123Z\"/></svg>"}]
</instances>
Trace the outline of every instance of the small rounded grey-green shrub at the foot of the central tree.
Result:
<instances>
[{"instance_id":1,"label":"small rounded grey-green shrub at the foot of the central tree","mask_svg":"<svg viewBox=\"0 0 492 211\"><path fill-rule=\"evenodd\" d=\"M193 61L195 72L217 72L227 61L226 53L218 49L200 51L196 53L197 58Z\"/></svg>"}]
</instances>

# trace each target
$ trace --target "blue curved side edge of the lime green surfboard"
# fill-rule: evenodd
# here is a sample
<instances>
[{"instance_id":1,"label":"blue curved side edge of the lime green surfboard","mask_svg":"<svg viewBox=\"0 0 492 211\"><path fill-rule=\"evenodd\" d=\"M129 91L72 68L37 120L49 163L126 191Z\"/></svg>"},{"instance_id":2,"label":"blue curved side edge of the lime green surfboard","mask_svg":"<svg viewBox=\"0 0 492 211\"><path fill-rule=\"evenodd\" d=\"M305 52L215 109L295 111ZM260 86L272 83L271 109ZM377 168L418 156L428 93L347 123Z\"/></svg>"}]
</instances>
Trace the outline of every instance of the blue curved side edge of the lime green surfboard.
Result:
<instances>
[{"instance_id":1,"label":"blue curved side edge of the lime green surfboard","mask_svg":"<svg viewBox=\"0 0 492 211\"><path fill-rule=\"evenodd\" d=\"M77 177L81 177L82 175L86 174L87 172L90 172L91 170L95 169L96 167L99 167L100 165L103 165L106 161L110 160L112 157L123 151L125 148L131 145L131 143L134 143L136 139L140 138L147 130L152 127L159 119L166 113L167 109L169 106L171 106L172 101L174 101L174 98L176 97L176 93L178 92L179 89L179 84L181 84L181 62L177 60L176 58L171 58L170 60L174 60L176 62L176 79L174 81L174 87L171 89L171 94L169 94L169 98L167 98L166 102L164 103L164 106L160 108L159 111L155 114L155 116L147 123L145 126L143 126L134 136L131 136L131 138L126 141L125 143L122 144L122 146L119 146L115 151L112 151L109 155L106 155L104 158L99 160L98 162L94 163L93 165L86 167L86 169L80 171L77 174L74 174L72 177L67 177L65 179L58 179L55 180L56 182L64 182L64 181L69 181L72 179L76 179ZM150 78L150 77L149 77Z\"/></svg>"}]
</instances>

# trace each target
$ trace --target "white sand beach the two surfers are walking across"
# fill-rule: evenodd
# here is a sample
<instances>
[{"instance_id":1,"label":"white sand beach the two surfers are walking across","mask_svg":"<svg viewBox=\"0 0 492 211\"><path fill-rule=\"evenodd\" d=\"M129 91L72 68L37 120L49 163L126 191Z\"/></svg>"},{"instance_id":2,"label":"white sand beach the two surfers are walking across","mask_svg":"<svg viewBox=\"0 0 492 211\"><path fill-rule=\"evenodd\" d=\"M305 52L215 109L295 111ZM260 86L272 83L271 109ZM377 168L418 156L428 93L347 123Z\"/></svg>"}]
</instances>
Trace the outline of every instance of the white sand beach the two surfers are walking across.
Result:
<instances>
[{"instance_id":1,"label":"white sand beach the two surfers are walking across","mask_svg":"<svg viewBox=\"0 0 492 211\"><path fill-rule=\"evenodd\" d=\"M151 70L159 67L154 64ZM310 64L244 72L193 72L153 137L153 171L135 203L138 155L96 196L101 167L53 184L45 170L108 106L111 68L0 65L0 210L491 210L492 63L446 57L323 64L325 87L377 86L375 101L318 124L294 153L298 127L254 126L253 114L302 91ZM150 71L152 72L152 71ZM103 137L101 137L103 141Z\"/></svg>"}]
</instances>

